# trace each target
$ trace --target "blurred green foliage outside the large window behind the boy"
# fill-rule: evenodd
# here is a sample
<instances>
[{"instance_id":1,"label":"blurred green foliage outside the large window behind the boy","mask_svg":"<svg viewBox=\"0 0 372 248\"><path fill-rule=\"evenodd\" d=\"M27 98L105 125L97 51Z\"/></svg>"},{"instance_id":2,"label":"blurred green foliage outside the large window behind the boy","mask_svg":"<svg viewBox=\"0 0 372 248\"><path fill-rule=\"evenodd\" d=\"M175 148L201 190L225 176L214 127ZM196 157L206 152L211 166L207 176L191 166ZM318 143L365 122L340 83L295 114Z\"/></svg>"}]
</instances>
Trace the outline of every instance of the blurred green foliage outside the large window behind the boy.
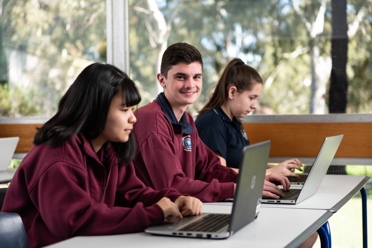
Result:
<instances>
[{"instance_id":1,"label":"blurred green foliage outside the large window behind the boy","mask_svg":"<svg viewBox=\"0 0 372 248\"><path fill-rule=\"evenodd\" d=\"M219 73L227 61L232 57L240 57L247 64L257 68L265 81L273 77L270 86L264 87L261 106L269 107L280 114L309 113L311 86L305 86L304 80L312 78L310 63L313 55L310 54L309 49L289 58L284 55L293 53L298 47L306 49L315 44L320 49L321 57L330 56L332 37L330 0L325 6L322 32L315 39L311 38L307 27L315 23L321 5L321 1L318 0L296 1L299 3L301 15L296 13L291 1L281 0L156 2L166 22L171 23L167 44L188 42L196 46L203 56L202 95L193 106L189 107L189 110L196 111L205 104L210 93L209 89L217 82ZM353 12L348 11L349 23L355 20L356 14L363 6L369 6L369 2L370 0L355 0L349 3L348 8L355 7ZM157 85L155 80L157 69L154 68L156 53L148 41L146 14L137 11L135 7L146 9L147 2L129 1L131 76L141 83L142 88L146 88L150 94L153 94ZM371 8L368 10L371 11ZM176 17L173 16L174 12L177 12ZM369 18L367 16L371 17L368 11L362 25L369 31L371 25L367 25L366 20ZM304 19L308 23L305 23ZM360 45L358 40L361 39L360 42L363 44L361 48L371 51L368 37L360 30L349 44L349 54L353 54L349 59L349 67L353 66L348 70L351 86L348 112L352 113L363 113L372 109L371 104L368 103L372 99L370 97L372 91L366 90L371 89L369 87L371 80L366 75L369 72L368 68L372 66L367 62L370 61L368 58L371 56L368 57L369 52L357 51L358 49L352 45L355 41ZM360 54L363 54L362 59ZM357 62L359 66L355 64L355 57L358 57L356 61L359 60ZM278 66L280 66L279 72L272 75ZM356 75L355 72L360 70L364 73ZM151 100L151 97L154 98L155 95L145 100Z\"/></svg>"}]
</instances>

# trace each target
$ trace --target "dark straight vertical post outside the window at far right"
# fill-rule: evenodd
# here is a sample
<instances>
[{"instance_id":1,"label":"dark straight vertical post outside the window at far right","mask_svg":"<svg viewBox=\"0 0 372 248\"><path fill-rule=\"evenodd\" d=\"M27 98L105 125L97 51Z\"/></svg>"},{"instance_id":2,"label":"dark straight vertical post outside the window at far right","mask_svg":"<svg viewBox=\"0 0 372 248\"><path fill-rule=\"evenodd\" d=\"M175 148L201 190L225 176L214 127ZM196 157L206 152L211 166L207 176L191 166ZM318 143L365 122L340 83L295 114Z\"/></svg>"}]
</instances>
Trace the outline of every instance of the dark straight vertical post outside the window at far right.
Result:
<instances>
[{"instance_id":1,"label":"dark straight vertical post outside the window at far right","mask_svg":"<svg viewBox=\"0 0 372 248\"><path fill-rule=\"evenodd\" d=\"M347 104L347 22L346 0L332 0L332 71L329 113L346 113Z\"/></svg>"}]
</instances>

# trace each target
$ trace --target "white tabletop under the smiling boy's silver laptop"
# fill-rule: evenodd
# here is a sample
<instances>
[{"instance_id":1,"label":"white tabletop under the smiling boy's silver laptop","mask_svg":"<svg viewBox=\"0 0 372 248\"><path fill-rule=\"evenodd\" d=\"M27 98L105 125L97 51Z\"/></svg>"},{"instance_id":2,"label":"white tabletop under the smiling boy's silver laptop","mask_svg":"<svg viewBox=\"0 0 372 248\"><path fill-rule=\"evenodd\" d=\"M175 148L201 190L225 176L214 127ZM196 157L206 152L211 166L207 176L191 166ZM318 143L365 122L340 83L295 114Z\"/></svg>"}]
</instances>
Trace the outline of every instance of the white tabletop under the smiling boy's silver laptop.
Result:
<instances>
[{"instance_id":1,"label":"white tabletop under the smiling boy's silver laptop","mask_svg":"<svg viewBox=\"0 0 372 248\"><path fill-rule=\"evenodd\" d=\"M335 213L366 184L369 177L364 175L325 175L314 195L298 204L261 204L272 208L325 209ZM206 204L232 205L232 202Z\"/></svg>"}]
</instances>

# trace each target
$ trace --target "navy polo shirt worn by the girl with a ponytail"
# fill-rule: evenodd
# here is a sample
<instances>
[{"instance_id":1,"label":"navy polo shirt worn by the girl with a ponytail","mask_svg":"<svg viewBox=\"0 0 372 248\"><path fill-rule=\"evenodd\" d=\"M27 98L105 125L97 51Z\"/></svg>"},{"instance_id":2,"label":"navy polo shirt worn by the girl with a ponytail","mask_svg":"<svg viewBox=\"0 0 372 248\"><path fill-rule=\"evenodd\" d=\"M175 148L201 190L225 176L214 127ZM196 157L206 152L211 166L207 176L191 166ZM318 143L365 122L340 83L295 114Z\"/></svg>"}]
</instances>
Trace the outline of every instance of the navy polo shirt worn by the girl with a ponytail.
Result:
<instances>
[{"instance_id":1,"label":"navy polo shirt worn by the girl with a ponytail","mask_svg":"<svg viewBox=\"0 0 372 248\"><path fill-rule=\"evenodd\" d=\"M249 140L235 116L231 120L219 107L202 113L195 126L200 139L209 149L221 153L228 167L239 168L241 151L249 145Z\"/></svg>"}]
</instances>

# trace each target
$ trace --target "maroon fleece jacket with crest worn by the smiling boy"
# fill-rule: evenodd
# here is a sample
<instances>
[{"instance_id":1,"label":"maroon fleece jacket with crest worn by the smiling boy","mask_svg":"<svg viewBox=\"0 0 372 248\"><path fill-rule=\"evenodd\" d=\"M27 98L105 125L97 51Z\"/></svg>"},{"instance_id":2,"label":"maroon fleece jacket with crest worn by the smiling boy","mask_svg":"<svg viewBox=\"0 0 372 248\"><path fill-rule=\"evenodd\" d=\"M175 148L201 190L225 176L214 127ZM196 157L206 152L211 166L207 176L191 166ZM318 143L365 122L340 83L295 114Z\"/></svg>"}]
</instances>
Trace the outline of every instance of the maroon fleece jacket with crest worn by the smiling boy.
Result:
<instances>
[{"instance_id":1,"label":"maroon fleece jacket with crest worn by the smiling boy","mask_svg":"<svg viewBox=\"0 0 372 248\"><path fill-rule=\"evenodd\" d=\"M192 116L185 115L192 133L182 133L181 125L172 125L157 100L135 111L138 154L133 165L137 177L155 190L170 187L202 202L233 198L237 173L221 165L199 138Z\"/></svg>"}]
</instances>

